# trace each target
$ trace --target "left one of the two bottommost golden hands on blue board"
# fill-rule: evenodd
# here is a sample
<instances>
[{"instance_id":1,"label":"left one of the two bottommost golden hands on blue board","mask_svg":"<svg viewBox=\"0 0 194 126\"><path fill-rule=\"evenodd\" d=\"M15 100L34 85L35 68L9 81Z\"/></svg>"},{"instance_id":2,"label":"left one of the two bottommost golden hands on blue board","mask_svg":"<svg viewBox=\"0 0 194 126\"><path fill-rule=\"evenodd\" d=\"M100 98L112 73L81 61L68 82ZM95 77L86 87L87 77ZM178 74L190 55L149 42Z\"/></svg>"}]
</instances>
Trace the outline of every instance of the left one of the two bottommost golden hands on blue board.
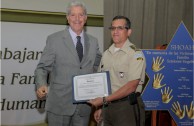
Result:
<instances>
[{"instance_id":1,"label":"left one of the two bottommost golden hands on blue board","mask_svg":"<svg viewBox=\"0 0 194 126\"><path fill-rule=\"evenodd\" d=\"M185 106L183 106L183 110L182 110L179 102L177 101L177 103L174 102L172 104L172 107L173 107L171 108L172 112L174 112L179 119L182 119L185 117Z\"/></svg>"}]
</instances>

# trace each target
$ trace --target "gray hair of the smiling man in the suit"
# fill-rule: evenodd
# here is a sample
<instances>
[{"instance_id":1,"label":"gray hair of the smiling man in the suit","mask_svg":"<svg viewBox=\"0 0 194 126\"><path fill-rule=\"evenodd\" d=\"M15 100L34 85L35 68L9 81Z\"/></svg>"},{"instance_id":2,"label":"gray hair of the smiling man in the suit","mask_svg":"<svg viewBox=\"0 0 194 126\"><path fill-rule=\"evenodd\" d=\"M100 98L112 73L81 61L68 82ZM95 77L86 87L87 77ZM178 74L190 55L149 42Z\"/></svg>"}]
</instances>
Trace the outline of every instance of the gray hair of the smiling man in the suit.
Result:
<instances>
[{"instance_id":1,"label":"gray hair of the smiling man in the suit","mask_svg":"<svg viewBox=\"0 0 194 126\"><path fill-rule=\"evenodd\" d=\"M83 2L80 2L80 1L72 1L67 6L67 9L66 9L67 16L71 13L71 7L73 7L73 6L80 6L81 8L83 8L84 14L87 15L87 9L86 9L86 6L85 6L85 4Z\"/></svg>"}]
</instances>

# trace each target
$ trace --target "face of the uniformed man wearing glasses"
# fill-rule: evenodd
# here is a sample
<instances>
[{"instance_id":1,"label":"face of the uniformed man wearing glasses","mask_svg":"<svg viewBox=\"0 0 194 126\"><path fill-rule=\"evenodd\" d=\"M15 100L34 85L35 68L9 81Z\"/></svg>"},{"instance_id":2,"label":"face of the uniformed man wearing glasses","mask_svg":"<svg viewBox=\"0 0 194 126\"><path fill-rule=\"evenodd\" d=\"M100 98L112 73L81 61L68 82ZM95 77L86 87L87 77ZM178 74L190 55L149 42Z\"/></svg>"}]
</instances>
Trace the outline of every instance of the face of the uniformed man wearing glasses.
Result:
<instances>
[{"instance_id":1,"label":"face of the uniformed man wearing glasses","mask_svg":"<svg viewBox=\"0 0 194 126\"><path fill-rule=\"evenodd\" d=\"M116 19L112 22L111 36L115 46L121 48L131 35L131 29L126 28L125 19Z\"/></svg>"}]
</instances>

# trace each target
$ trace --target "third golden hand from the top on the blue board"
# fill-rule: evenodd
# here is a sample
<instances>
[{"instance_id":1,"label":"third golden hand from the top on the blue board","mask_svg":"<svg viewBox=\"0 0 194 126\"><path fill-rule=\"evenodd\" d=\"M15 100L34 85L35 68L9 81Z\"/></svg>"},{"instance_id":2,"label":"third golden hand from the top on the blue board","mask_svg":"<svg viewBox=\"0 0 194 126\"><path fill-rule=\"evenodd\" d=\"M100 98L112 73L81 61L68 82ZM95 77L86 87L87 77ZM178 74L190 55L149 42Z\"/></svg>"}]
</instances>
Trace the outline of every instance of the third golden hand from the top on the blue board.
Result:
<instances>
[{"instance_id":1,"label":"third golden hand from the top on the blue board","mask_svg":"<svg viewBox=\"0 0 194 126\"><path fill-rule=\"evenodd\" d=\"M173 96L170 97L170 94L172 93L172 89L170 90L170 88L168 87L168 89L166 90L166 87L164 88L164 92L161 89L161 93L162 93L162 102L163 103L168 103L170 102L170 100L173 98Z\"/></svg>"}]
</instances>

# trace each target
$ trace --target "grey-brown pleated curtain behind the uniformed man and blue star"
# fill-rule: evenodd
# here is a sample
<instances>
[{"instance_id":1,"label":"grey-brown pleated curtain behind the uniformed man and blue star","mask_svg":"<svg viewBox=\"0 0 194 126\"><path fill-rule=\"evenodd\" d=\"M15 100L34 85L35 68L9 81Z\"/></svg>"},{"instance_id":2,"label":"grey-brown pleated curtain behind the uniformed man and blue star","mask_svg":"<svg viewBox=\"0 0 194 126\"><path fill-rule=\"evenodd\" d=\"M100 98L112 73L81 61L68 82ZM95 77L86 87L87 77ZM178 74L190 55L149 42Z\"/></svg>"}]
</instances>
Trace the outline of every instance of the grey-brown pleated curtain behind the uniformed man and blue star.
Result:
<instances>
[{"instance_id":1,"label":"grey-brown pleated curtain behind the uniformed man and blue star","mask_svg":"<svg viewBox=\"0 0 194 126\"><path fill-rule=\"evenodd\" d=\"M116 15L131 20L130 40L142 49L168 44L181 22L193 37L193 0L104 0L104 49L112 43L108 27Z\"/></svg>"}]
</instances>

